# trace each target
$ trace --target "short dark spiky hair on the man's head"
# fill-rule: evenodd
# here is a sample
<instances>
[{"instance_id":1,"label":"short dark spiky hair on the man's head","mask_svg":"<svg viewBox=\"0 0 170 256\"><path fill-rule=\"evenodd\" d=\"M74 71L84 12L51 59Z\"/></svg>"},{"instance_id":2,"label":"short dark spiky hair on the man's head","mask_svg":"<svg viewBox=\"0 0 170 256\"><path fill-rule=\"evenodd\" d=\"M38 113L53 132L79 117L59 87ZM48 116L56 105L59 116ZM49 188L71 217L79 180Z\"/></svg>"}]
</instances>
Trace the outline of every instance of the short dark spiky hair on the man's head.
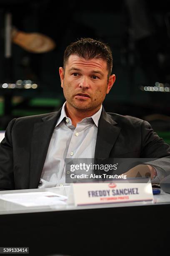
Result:
<instances>
[{"instance_id":1,"label":"short dark spiky hair on the man's head","mask_svg":"<svg viewBox=\"0 0 170 256\"><path fill-rule=\"evenodd\" d=\"M80 38L80 40L71 43L67 46L64 52L64 68L68 58L72 54L76 54L86 60L94 58L105 60L107 62L108 77L111 75L112 51L106 44L92 38Z\"/></svg>"}]
</instances>

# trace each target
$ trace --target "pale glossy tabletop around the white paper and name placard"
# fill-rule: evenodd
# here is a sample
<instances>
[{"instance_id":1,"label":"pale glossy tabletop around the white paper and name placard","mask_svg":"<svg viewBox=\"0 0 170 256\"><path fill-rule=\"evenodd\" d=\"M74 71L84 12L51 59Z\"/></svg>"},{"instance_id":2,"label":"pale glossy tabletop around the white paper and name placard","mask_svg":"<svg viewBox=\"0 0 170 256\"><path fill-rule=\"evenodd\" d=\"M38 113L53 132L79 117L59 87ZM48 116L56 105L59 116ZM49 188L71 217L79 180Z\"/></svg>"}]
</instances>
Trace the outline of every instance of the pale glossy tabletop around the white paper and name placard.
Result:
<instances>
[{"instance_id":1,"label":"pale glossy tabletop around the white paper and name placard","mask_svg":"<svg viewBox=\"0 0 170 256\"><path fill-rule=\"evenodd\" d=\"M20 189L20 190L5 190L0 191L0 194L9 193L28 193L28 192L54 192L59 195L69 197L72 195L71 187L55 187L47 189ZM0 215L18 214L18 213L32 213L32 212L50 212L50 211L68 211L68 210L87 210L87 209L100 209L100 208L113 208L113 207L134 207L134 206L145 206L145 205L165 205L170 204L170 194L165 193L161 190L159 195L154 195L153 202L127 202L127 203L109 203L102 205L86 205L86 206L75 206L73 203L67 205L51 205L51 206L37 206L37 207L26 207L5 200L0 200Z\"/></svg>"}]
</instances>

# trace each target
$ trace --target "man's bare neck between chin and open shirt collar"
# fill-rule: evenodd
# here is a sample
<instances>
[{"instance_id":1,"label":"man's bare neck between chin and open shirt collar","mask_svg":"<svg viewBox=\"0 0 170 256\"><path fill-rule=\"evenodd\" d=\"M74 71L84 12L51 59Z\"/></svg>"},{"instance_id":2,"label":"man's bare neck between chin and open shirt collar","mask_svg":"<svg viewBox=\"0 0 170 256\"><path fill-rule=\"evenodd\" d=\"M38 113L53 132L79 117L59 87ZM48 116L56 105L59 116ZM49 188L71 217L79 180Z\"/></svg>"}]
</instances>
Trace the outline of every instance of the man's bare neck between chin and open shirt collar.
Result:
<instances>
[{"instance_id":1,"label":"man's bare neck between chin and open shirt collar","mask_svg":"<svg viewBox=\"0 0 170 256\"><path fill-rule=\"evenodd\" d=\"M65 113L67 115L67 117L69 117L72 121L72 125L74 125L76 127L77 123L81 122L82 119L90 117L92 115L94 115L95 113L97 113L97 111L100 109L101 106L99 106L98 108L94 109L94 110L78 110L76 108L73 108L72 106L68 105L66 102L65 105Z\"/></svg>"}]
</instances>

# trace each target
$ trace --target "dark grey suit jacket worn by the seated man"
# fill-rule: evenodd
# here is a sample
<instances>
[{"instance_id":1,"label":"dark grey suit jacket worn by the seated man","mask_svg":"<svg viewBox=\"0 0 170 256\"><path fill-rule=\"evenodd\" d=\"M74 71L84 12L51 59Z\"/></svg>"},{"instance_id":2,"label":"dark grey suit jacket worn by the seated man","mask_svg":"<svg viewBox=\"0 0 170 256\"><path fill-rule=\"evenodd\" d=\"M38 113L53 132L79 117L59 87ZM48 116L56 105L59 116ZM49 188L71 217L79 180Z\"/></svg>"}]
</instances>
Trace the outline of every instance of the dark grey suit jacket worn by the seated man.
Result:
<instances>
[{"instance_id":1,"label":"dark grey suit jacket worn by the seated man","mask_svg":"<svg viewBox=\"0 0 170 256\"><path fill-rule=\"evenodd\" d=\"M55 113L15 118L0 143L0 189L37 188L50 138L61 109ZM102 109L96 159L155 158L151 162L170 174L170 146L146 121Z\"/></svg>"}]
</instances>

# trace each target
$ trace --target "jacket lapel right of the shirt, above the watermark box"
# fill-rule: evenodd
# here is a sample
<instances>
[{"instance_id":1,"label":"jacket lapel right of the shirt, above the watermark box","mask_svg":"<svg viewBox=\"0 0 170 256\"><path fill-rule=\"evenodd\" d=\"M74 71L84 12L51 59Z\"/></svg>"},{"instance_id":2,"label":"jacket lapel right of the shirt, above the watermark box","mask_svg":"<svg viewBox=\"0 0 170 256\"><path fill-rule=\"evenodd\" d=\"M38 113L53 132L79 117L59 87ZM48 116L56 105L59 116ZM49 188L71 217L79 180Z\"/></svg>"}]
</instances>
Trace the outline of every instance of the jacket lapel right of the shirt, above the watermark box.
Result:
<instances>
[{"instance_id":1,"label":"jacket lapel right of the shirt, above the watermark box","mask_svg":"<svg viewBox=\"0 0 170 256\"><path fill-rule=\"evenodd\" d=\"M102 108L97 131L95 159L109 158L110 151L121 131L121 128L117 127L116 124L112 117Z\"/></svg>"}]
</instances>

